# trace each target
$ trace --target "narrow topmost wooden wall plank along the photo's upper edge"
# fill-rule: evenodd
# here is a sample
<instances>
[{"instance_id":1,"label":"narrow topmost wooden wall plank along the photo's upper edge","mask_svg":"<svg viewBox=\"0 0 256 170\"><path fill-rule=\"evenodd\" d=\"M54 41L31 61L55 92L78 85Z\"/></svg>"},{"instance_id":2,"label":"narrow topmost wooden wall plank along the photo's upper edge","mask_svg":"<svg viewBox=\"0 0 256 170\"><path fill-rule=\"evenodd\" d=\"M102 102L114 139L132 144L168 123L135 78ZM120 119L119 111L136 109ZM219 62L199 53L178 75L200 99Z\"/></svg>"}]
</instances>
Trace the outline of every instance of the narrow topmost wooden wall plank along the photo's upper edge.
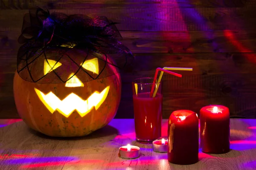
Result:
<instances>
[{"instance_id":1,"label":"narrow topmost wooden wall plank along the photo's upper edge","mask_svg":"<svg viewBox=\"0 0 256 170\"><path fill-rule=\"evenodd\" d=\"M181 8L194 8L196 7L243 7L243 6L253 6L255 2L253 0L44 0L44 1L35 1L35 0L1 0L0 9L29 9L33 8L35 5L44 7L44 8L113 8L120 6L127 6L128 8L137 7L148 7L152 4L154 5L168 5L169 8L177 8L177 3ZM84 4L84 6L81 6Z\"/></svg>"}]
</instances>

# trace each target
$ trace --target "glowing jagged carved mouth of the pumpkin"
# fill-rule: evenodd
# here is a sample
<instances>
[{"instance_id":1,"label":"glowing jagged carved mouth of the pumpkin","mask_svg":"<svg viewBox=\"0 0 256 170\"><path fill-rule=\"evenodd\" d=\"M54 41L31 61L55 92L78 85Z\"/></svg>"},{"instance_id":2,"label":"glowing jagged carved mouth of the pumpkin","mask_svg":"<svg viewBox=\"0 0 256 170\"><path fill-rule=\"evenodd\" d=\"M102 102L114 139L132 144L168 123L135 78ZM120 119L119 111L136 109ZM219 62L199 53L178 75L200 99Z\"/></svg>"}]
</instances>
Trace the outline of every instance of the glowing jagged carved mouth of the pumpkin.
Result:
<instances>
[{"instance_id":1,"label":"glowing jagged carved mouth of the pumpkin","mask_svg":"<svg viewBox=\"0 0 256 170\"><path fill-rule=\"evenodd\" d=\"M100 105L105 101L108 96L110 86L106 87L101 93L95 91L87 100L81 99L74 93L69 94L65 99L60 100L55 94L49 92L44 94L40 90L35 88L35 92L38 95L41 102L48 108L48 110L53 113L55 110L59 111L65 117L70 116L70 114L76 110L81 117L85 116L90 110L95 107L97 110Z\"/></svg>"}]
</instances>

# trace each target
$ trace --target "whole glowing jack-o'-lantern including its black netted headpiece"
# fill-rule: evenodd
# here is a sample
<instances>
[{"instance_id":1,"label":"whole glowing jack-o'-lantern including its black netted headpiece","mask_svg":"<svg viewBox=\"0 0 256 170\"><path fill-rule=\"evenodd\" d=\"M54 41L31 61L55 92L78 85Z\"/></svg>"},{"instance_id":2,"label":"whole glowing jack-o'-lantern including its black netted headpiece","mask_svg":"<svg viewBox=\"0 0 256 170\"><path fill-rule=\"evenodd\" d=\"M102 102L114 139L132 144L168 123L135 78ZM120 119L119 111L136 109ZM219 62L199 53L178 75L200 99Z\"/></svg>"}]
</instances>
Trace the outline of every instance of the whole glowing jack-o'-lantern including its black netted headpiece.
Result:
<instances>
[{"instance_id":1,"label":"whole glowing jack-o'-lantern including its black netted headpiece","mask_svg":"<svg viewBox=\"0 0 256 170\"><path fill-rule=\"evenodd\" d=\"M134 58L115 24L38 7L24 15L14 97L29 127L49 136L84 136L113 119L118 68Z\"/></svg>"}]
</instances>

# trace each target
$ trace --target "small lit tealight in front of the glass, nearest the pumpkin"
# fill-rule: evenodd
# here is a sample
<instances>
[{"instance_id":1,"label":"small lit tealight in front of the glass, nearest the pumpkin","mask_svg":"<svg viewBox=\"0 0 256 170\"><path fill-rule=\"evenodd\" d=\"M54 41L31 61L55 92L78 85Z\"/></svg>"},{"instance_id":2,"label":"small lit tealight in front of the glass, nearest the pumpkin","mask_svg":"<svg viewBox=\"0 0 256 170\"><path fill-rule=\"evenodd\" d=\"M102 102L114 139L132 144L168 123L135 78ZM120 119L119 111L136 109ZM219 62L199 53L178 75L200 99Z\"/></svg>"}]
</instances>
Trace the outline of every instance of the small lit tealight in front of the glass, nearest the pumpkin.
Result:
<instances>
[{"instance_id":1,"label":"small lit tealight in front of the glass, nearest the pumpkin","mask_svg":"<svg viewBox=\"0 0 256 170\"><path fill-rule=\"evenodd\" d=\"M119 157L125 159L134 159L140 156L140 147L132 146L127 144L127 146L119 147Z\"/></svg>"}]
</instances>

